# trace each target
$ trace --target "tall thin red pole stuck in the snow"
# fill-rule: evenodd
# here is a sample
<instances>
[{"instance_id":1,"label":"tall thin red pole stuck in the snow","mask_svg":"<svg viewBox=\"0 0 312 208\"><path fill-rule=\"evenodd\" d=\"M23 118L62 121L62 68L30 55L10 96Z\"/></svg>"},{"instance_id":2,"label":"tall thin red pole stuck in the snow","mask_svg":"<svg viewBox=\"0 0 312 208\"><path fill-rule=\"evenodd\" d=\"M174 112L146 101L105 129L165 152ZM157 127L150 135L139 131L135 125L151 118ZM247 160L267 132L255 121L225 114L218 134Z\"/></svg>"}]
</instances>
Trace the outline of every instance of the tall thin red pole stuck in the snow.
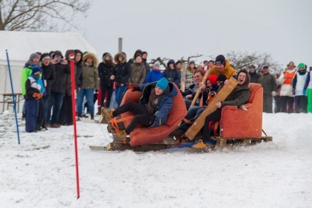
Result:
<instances>
[{"instance_id":1,"label":"tall thin red pole stuck in the snow","mask_svg":"<svg viewBox=\"0 0 312 208\"><path fill-rule=\"evenodd\" d=\"M76 126L76 100L75 98L75 88L76 84L74 83L74 54L69 54L70 58L70 76L72 78L72 122L74 124L74 155L76 162L76 183L77 183L77 199L80 197L79 190L79 168L78 168L78 148L77 148L77 126Z\"/></svg>"}]
</instances>

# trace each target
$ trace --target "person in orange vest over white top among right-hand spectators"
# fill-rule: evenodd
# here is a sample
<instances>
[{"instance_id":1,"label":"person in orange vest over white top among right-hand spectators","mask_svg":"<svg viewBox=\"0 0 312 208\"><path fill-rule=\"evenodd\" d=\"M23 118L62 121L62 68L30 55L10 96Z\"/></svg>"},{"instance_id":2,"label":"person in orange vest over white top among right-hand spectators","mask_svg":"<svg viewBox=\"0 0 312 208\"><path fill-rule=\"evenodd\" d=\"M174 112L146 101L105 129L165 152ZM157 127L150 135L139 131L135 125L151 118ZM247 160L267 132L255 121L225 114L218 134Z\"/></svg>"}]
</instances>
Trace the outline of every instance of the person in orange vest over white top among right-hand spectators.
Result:
<instances>
[{"instance_id":1,"label":"person in orange vest over white top among right-hand spectators","mask_svg":"<svg viewBox=\"0 0 312 208\"><path fill-rule=\"evenodd\" d=\"M281 84L281 112L294 112L294 94L292 93L292 80L296 75L296 67L294 62L289 62L284 73L277 79L277 84Z\"/></svg>"}]
</instances>

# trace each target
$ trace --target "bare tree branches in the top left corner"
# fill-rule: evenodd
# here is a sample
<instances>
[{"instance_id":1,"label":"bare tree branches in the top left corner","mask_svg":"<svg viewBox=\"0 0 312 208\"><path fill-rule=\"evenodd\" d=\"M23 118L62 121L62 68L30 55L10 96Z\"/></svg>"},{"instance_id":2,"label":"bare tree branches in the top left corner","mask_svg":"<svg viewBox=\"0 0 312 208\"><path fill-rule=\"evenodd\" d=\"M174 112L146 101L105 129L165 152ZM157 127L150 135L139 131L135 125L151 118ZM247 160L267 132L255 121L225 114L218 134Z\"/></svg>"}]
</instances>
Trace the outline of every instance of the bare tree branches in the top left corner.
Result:
<instances>
[{"instance_id":1,"label":"bare tree branches in the top left corner","mask_svg":"<svg viewBox=\"0 0 312 208\"><path fill-rule=\"evenodd\" d=\"M55 20L77 28L75 13L86 12L91 0L0 0L0 31L52 31Z\"/></svg>"}]
</instances>

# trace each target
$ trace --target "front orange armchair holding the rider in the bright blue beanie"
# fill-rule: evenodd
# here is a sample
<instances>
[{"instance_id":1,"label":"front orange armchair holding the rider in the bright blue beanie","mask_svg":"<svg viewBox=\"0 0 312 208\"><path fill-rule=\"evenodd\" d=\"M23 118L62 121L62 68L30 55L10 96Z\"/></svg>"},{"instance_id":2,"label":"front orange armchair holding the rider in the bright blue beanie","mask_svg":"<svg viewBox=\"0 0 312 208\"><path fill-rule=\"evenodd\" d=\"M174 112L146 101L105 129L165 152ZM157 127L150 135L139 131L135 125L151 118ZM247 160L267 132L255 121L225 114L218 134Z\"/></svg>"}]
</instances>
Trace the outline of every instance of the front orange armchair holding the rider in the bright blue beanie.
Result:
<instances>
[{"instance_id":1,"label":"front orange armchair holding the rider in the bright blue beanie","mask_svg":"<svg viewBox=\"0 0 312 208\"><path fill-rule=\"evenodd\" d=\"M177 128L179 122L182 121L186 115L186 106L179 88L175 84L174 87L177 88L178 94L173 97L172 109L169 111L166 124L154 128L140 126L135 128L130 133L130 146L162 142L169 136L169 133L174 131L174 128ZM123 96L121 105L129 101L139 102L141 94L142 93L139 91L132 92L131 89L128 89ZM130 115L132 115L130 112L126 112L125 114L121 114L121 117ZM123 124L127 127L130 121L131 120L123 121Z\"/></svg>"}]
</instances>

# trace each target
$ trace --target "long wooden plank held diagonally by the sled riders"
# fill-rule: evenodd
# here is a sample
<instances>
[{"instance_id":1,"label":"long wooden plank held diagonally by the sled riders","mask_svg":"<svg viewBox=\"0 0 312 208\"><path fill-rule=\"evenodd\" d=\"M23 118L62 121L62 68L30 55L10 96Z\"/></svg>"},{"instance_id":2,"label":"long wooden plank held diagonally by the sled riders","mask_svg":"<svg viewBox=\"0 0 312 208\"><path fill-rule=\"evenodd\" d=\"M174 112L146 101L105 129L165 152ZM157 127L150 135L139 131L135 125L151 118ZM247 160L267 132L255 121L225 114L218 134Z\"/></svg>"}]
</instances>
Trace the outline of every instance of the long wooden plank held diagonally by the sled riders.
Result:
<instances>
[{"instance_id":1,"label":"long wooden plank held diagonally by the sled riders","mask_svg":"<svg viewBox=\"0 0 312 208\"><path fill-rule=\"evenodd\" d=\"M185 136L191 140L193 140L197 133L203 128L206 116L211 114L213 111L216 111L216 103L217 102L223 102L226 97L230 94L230 92L233 91L233 89L238 84L238 81L235 80L233 77L230 77L230 84L224 85L220 92L216 94L216 97L213 98L211 103L206 107L206 109L201 113L198 119L194 122L194 124L189 127L189 129L186 131Z\"/></svg>"}]
</instances>

